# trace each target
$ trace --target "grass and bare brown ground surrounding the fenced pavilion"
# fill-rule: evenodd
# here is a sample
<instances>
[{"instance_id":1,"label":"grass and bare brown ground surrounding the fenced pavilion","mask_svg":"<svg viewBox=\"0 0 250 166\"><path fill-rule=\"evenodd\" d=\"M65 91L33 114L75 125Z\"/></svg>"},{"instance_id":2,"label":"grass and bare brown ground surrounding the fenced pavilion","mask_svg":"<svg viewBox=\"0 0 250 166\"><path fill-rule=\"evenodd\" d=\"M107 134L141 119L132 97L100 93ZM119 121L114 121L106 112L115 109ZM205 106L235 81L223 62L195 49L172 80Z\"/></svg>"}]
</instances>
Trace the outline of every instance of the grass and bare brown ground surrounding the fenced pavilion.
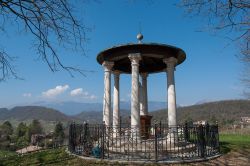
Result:
<instances>
[{"instance_id":1,"label":"grass and bare brown ground surrounding the fenced pavilion","mask_svg":"<svg viewBox=\"0 0 250 166\"><path fill-rule=\"evenodd\" d=\"M250 162L250 135L221 134L221 152L223 155L207 162L191 165L248 165ZM0 151L0 166L15 165L108 165L106 162L94 162L68 155L65 148L50 149L18 156L13 152ZM111 165L122 165L113 163ZM154 165L154 164L153 164ZM156 164L158 165L158 164Z\"/></svg>"}]
</instances>

